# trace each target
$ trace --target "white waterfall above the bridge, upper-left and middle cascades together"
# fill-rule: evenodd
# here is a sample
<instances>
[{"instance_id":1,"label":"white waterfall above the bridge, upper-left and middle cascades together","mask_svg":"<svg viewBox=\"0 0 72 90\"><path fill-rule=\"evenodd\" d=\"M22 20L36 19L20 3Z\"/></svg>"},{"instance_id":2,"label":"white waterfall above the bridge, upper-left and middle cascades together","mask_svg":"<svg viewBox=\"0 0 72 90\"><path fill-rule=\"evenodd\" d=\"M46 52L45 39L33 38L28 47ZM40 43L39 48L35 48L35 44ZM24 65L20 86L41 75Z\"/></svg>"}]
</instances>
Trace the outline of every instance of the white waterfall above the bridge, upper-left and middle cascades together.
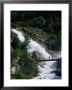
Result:
<instances>
[{"instance_id":1,"label":"white waterfall above the bridge, upper-left and middle cascades together","mask_svg":"<svg viewBox=\"0 0 72 90\"><path fill-rule=\"evenodd\" d=\"M17 34L21 42L25 41L25 37L21 31L17 31L16 29L12 29L12 31ZM39 52L43 56L43 59L52 58L51 55L48 52L46 52L45 47L43 47L42 45L40 45L39 43L37 43L36 41L32 39L29 40L29 44L27 48L28 48L29 53L32 53L34 51Z\"/></svg>"}]
</instances>

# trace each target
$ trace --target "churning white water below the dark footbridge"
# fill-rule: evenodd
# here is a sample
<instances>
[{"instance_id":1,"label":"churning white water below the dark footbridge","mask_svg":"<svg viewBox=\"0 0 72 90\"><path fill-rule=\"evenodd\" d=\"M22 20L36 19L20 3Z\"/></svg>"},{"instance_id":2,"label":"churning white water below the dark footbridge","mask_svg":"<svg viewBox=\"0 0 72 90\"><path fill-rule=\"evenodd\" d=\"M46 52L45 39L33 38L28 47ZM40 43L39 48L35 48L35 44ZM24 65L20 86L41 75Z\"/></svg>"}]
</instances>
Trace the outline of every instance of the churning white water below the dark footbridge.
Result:
<instances>
[{"instance_id":1,"label":"churning white water below the dark footbridge","mask_svg":"<svg viewBox=\"0 0 72 90\"><path fill-rule=\"evenodd\" d=\"M38 76L34 79L52 79L55 77L55 74L51 73L55 70L51 66L55 63L55 61L46 61L39 63L39 73Z\"/></svg>"}]
</instances>

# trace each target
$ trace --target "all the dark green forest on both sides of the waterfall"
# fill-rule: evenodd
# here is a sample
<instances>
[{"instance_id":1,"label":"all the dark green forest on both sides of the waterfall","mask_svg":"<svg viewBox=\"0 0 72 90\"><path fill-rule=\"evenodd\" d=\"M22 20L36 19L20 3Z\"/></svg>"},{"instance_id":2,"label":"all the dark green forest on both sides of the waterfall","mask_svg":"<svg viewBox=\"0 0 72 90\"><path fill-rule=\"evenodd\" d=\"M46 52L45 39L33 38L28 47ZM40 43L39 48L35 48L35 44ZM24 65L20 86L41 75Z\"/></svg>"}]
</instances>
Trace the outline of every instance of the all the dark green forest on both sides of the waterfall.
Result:
<instances>
[{"instance_id":1,"label":"all the dark green forest on both sides of the waterfall","mask_svg":"<svg viewBox=\"0 0 72 90\"><path fill-rule=\"evenodd\" d=\"M32 79L38 75L36 51L27 52L29 39L37 41L46 51L61 51L61 11L11 11L11 29L21 31L25 41L20 42L11 31L11 73L12 79ZM58 63L58 62L57 62ZM57 74L61 76L61 64L57 64Z\"/></svg>"}]
</instances>

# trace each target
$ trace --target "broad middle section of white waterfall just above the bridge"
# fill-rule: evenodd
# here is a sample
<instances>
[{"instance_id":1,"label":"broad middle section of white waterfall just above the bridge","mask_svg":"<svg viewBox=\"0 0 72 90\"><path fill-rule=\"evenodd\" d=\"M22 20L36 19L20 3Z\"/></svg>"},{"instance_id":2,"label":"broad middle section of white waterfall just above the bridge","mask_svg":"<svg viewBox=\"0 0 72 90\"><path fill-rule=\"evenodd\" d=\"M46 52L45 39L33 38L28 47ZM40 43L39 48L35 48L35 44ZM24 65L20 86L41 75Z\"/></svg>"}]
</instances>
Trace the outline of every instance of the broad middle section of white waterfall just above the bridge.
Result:
<instances>
[{"instance_id":1,"label":"broad middle section of white waterfall just above the bridge","mask_svg":"<svg viewBox=\"0 0 72 90\"><path fill-rule=\"evenodd\" d=\"M42 45L30 39L30 42L28 45L28 52L32 53L34 51L39 52L41 54L42 59L52 58L51 55L48 52L46 52L45 48Z\"/></svg>"}]
</instances>

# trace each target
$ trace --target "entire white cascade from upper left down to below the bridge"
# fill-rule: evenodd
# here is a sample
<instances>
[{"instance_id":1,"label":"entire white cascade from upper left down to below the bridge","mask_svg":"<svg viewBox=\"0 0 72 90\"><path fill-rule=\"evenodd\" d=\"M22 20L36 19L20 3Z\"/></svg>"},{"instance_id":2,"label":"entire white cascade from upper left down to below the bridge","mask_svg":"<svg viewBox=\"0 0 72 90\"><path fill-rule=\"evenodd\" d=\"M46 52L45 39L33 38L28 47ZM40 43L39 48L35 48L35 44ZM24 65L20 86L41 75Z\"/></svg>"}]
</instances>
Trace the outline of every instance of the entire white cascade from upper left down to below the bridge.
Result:
<instances>
[{"instance_id":1,"label":"entire white cascade from upper left down to below the bridge","mask_svg":"<svg viewBox=\"0 0 72 90\"><path fill-rule=\"evenodd\" d=\"M14 33L18 35L18 38L21 42L25 41L25 37L23 36L22 32L17 31L16 29L12 29ZM45 47L37 43L36 41L30 39L28 44L28 52L32 53L34 51L37 51L41 54L42 59L50 59L52 56L45 50ZM41 62L38 65L39 73L37 77L34 77L33 79L55 79L59 78L55 74L51 73L52 71L56 70L55 67L52 67L56 63L56 61L45 61Z\"/></svg>"}]
</instances>

